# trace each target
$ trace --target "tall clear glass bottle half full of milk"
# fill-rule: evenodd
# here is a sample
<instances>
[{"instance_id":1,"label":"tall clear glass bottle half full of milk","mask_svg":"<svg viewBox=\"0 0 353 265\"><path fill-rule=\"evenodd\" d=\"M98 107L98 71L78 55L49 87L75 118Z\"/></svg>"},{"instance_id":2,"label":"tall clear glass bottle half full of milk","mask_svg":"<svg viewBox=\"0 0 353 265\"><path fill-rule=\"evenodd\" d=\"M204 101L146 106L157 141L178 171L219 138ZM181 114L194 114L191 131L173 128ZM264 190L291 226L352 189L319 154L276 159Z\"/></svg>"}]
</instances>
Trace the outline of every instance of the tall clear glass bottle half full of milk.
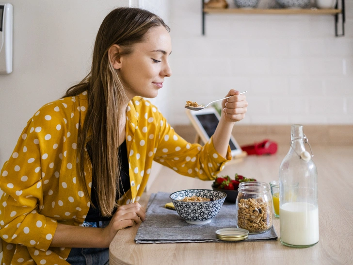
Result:
<instances>
[{"instance_id":1,"label":"tall clear glass bottle half full of milk","mask_svg":"<svg viewBox=\"0 0 353 265\"><path fill-rule=\"evenodd\" d=\"M289 152L279 167L280 241L307 248L319 242L318 171L303 125L292 125L290 138Z\"/></svg>"}]
</instances>

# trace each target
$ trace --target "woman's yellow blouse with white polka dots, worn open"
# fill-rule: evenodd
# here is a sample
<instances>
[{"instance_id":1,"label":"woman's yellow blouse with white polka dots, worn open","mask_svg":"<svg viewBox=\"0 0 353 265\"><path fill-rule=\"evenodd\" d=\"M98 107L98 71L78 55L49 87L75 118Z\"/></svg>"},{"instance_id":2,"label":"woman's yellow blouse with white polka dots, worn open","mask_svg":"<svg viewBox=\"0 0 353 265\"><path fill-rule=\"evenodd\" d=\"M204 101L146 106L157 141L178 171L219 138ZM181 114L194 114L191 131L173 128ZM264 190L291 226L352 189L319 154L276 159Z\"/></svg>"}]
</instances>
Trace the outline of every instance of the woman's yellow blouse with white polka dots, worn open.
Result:
<instances>
[{"instance_id":1,"label":"woman's yellow blouse with white polka dots, worn open","mask_svg":"<svg viewBox=\"0 0 353 265\"><path fill-rule=\"evenodd\" d=\"M65 264L70 248L52 248L57 223L79 226L90 207L78 180L78 129L87 110L87 92L44 105L28 121L0 173L2 265ZM126 144L131 189L122 203L138 201L152 161L176 172L212 180L227 161L213 147L191 144L176 134L158 109L135 97L127 107ZM88 157L88 154L86 154ZM231 158L228 148L227 159ZM86 185L92 172L84 162Z\"/></svg>"}]
</instances>

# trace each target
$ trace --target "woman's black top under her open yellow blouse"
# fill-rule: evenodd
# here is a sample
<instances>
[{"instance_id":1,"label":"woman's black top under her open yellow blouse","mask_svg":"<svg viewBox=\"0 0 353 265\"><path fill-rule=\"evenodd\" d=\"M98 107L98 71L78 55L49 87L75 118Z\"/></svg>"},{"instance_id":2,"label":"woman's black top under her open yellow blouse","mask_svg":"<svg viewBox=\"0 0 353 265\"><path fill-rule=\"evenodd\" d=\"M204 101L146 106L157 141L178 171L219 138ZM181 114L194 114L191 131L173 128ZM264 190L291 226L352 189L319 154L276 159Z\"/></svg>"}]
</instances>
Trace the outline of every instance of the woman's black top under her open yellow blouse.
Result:
<instances>
[{"instance_id":1,"label":"woman's black top under her open yellow blouse","mask_svg":"<svg viewBox=\"0 0 353 265\"><path fill-rule=\"evenodd\" d=\"M94 163L93 154L89 143L87 144L87 151L91 159L91 162ZM125 191L128 191L130 189L130 177L128 174L128 150L126 148L126 141L124 141L124 143L122 143L119 146L119 156L121 159L119 190L120 190L120 195L122 196L125 194ZM99 210L99 206L96 198L97 198L96 178L95 176L92 176L91 199L92 199L92 204L95 205L96 208L93 208L91 204L90 209L88 210L88 214L84 220L86 222L109 221L112 217L103 217L102 215L100 215L100 210ZM116 200L118 199L119 199L119 195L117 193ZM116 208L114 209L112 214L114 214L115 212L116 212Z\"/></svg>"}]
</instances>

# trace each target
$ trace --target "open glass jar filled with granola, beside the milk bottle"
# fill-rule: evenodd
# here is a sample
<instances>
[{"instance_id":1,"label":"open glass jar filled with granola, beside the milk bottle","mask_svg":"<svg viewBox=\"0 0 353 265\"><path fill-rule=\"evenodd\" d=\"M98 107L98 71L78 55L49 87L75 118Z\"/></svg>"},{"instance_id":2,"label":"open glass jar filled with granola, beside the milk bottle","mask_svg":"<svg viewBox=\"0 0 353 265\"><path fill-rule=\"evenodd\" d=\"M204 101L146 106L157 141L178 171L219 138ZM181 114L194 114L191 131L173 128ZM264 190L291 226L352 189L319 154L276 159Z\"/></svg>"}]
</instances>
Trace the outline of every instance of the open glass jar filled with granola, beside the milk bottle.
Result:
<instances>
[{"instance_id":1,"label":"open glass jar filled with granola, beside the milk bottle","mask_svg":"<svg viewBox=\"0 0 353 265\"><path fill-rule=\"evenodd\" d=\"M241 182L236 200L237 227L251 234L263 233L272 227L272 198L265 182Z\"/></svg>"}]
</instances>

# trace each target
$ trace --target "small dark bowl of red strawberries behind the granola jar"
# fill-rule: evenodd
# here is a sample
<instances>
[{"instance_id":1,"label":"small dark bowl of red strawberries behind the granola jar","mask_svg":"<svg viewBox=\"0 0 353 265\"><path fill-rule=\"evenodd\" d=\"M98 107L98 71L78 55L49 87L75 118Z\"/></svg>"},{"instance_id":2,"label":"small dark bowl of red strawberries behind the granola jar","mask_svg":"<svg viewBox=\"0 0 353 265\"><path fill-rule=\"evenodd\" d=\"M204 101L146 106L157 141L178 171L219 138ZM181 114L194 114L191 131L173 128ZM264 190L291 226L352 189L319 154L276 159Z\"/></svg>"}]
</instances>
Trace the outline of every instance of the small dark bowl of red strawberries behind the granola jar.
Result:
<instances>
[{"instance_id":1,"label":"small dark bowl of red strawberries behind the granola jar","mask_svg":"<svg viewBox=\"0 0 353 265\"><path fill-rule=\"evenodd\" d=\"M223 191L227 195L226 201L235 203L238 196L238 188L241 182L251 182L256 181L256 179L248 179L242 175L235 174L234 180L232 180L228 175L217 177L213 184L212 189L216 191Z\"/></svg>"}]
</instances>

